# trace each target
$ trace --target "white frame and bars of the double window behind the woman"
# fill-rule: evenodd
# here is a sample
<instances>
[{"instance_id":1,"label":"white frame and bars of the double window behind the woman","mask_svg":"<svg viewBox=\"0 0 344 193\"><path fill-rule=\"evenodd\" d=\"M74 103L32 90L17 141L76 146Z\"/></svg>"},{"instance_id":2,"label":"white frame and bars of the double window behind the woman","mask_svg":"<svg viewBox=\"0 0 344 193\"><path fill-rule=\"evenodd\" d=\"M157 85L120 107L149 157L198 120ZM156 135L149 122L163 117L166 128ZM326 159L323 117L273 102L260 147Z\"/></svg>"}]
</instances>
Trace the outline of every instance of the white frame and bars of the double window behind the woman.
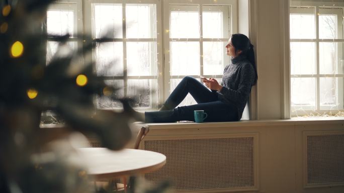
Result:
<instances>
[{"instance_id":1,"label":"white frame and bars of the double window behind the woman","mask_svg":"<svg viewBox=\"0 0 344 193\"><path fill-rule=\"evenodd\" d=\"M64 0L64 2L74 2L74 1L81 1L81 0ZM124 87L127 86L126 80L129 79L155 79L157 81L157 90L156 91L151 91L151 96L152 96L152 104L151 108L143 108L144 111L149 111L149 110L154 110L157 109L159 106L162 105L164 100L169 96L169 80L173 77L170 76L169 74L169 54L166 50L169 50L169 35L166 33L166 29L169 29L169 12L168 12L168 5L169 4L177 4L177 5L187 5L187 4L193 4L193 5L200 5L199 9L202 10L202 5L207 5L207 6L231 6L231 11L230 11L230 20L228 21L229 24L231 25L231 33L237 33L238 29L238 24L237 24L237 15L238 15L238 3L237 0L217 0L217 1L206 1L206 0L200 0L200 1L190 1L190 0L90 0L90 1L82 1L82 6L81 3L78 4L78 12L83 16L83 19L81 18L82 27L83 27L83 32L85 34L92 34L92 37L84 37L83 42L93 42L96 43L98 40L93 38L95 37L95 33L93 31L93 9L92 5L93 4L122 4L122 18L125 18L125 4L155 4L156 5L156 37L154 38L149 38L149 39L127 39L125 37L125 31L126 31L126 26L125 26L125 21L123 21L122 25L122 30L123 30L123 38L121 39L110 39L109 42L123 42L123 61L124 61L124 68L126 67L126 42L156 42L157 43L157 72L158 74L156 76L127 76L124 74L123 76L111 76L109 77L109 80L124 80ZM163 15L162 15L163 13ZM202 16L202 12L200 12ZM167 17L166 17L167 16ZM79 22L79 20L78 20ZM200 26L202 29L202 24ZM201 32L202 33L202 30ZM202 35L202 34L201 34ZM180 40L182 41L182 39ZM214 39L202 39L202 37L191 40L188 39L188 41L198 41L202 45L203 41L214 41ZM216 41L221 41L221 42L227 42L228 39L216 39ZM82 43L81 43L82 44ZM168 48L168 49L166 49ZM200 57L202 57L202 46L200 46L201 49L201 54ZM85 61L95 61L95 52L92 54L85 56ZM227 59L228 61L224 61L224 66L229 63L229 58ZM201 58L201 67L203 66L203 59ZM202 72L203 69L201 69L201 75L203 75ZM96 68L94 67L94 72L96 73ZM195 78L199 77L195 76ZM206 77L211 77L206 76ZM217 78L221 78L222 75L216 75ZM126 96L126 88L124 89L125 96ZM156 102L157 103L156 103ZM155 104L156 103L156 104Z\"/></svg>"}]
</instances>

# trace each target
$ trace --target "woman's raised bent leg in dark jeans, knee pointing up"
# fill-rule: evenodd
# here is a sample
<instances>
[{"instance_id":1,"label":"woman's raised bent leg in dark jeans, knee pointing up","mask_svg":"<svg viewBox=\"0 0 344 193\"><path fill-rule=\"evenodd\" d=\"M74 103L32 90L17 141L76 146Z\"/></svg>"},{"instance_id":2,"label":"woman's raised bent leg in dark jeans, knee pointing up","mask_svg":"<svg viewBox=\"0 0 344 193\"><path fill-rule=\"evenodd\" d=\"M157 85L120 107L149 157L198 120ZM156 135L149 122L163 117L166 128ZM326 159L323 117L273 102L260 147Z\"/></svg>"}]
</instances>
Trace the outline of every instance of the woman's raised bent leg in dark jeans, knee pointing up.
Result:
<instances>
[{"instance_id":1,"label":"woman's raised bent leg in dark jeans, knee pointing up","mask_svg":"<svg viewBox=\"0 0 344 193\"><path fill-rule=\"evenodd\" d=\"M197 103L206 103L217 100L217 95L208 90L201 82L193 77L186 76L169 95L160 110L176 108L190 93Z\"/></svg>"}]
</instances>

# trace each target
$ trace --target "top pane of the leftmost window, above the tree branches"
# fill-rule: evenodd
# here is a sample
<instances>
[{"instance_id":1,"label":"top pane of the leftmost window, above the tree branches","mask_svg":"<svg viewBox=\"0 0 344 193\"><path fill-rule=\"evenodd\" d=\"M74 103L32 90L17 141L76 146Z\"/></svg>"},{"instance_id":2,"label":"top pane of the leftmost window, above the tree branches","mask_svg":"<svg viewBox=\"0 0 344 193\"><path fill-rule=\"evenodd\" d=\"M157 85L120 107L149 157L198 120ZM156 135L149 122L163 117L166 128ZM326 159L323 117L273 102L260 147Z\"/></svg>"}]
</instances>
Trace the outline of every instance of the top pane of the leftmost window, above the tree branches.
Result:
<instances>
[{"instance_id":1,"label":"top pane of the leftmost window, above the tree branches","mask_svg":"<svg viewBox=\"0 0 344 193\"><path fill-rule=\"evenodd\" d=\"M48 35L63 36L74 34L74 13L72 11L47 12Z\"/></svg>"}]
</instances>

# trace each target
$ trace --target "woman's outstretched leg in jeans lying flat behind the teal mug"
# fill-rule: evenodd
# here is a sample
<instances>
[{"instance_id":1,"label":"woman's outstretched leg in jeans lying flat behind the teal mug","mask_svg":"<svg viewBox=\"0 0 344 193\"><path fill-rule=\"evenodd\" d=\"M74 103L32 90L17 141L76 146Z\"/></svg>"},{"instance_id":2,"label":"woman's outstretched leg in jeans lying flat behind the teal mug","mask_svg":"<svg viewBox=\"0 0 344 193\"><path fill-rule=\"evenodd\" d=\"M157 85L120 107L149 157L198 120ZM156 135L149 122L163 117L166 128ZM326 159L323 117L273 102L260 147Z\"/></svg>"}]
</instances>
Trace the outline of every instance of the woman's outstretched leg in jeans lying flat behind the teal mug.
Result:
<instances>
[{"instance_id":1,"label":"woman's outstretched leg in jeans lying flat behind the teal mug","mask_svg":"<svg viewBox=\"0 0 344 193\"><path fill-rule=\"evenodd\" d=\"M195 121L194 111L204 110L208 114L205 122L237 121L237 108L221 101L182 106L173 110L145 112L145 122L162 123L176 121Z\"/></svg>"}]
</instances>

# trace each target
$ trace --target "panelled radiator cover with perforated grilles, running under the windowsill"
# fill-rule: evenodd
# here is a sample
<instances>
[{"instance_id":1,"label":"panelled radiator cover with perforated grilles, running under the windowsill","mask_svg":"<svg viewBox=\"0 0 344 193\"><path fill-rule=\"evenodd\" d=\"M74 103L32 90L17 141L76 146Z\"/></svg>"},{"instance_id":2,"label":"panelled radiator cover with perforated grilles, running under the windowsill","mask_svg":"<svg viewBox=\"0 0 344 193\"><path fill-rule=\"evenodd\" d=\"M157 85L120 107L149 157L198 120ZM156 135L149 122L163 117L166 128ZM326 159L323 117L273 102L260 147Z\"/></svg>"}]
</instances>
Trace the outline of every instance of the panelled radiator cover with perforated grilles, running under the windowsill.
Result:
<instances>
[{"instance_id":1,"label":"panelled radiator cover with perforated grilles, running under the windowsill","mask_svg":"<svg viewBox=\"0 0 344 193\"><path fill-rule=\"evenodd\" d=\"M145 177L175 192L344 192L344 120L148 126L140 148L167 160Z\"/></svg>"}]
</instances>

